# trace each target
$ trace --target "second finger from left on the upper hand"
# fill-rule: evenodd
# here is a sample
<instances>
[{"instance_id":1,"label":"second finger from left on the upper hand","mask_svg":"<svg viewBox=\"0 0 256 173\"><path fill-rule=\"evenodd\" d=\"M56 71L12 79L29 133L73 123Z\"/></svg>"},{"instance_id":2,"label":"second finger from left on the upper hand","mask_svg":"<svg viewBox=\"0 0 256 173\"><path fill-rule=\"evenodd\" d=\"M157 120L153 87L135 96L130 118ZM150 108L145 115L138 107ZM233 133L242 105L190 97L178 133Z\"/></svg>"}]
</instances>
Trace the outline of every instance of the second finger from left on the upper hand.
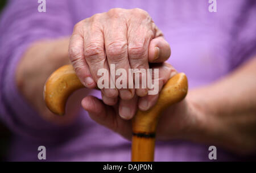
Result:
<instances>
[{"instance_id":1,"label":"second finger from left on the upper hand","mask_svg":"<svg viewBox=\"0 0 256 173\"><path fill-rule=\"evenodd\" d=\"M104 49L104 35L102 33L100 24L90 24L86 27L84 32L85 60L89 66L90 73L92 74L94 81L98 82L98 79L101 78L101 76L98 76L98 70L105 69L108 73L102 74L104 84L106 82L106 86L104 85L103 88L105 91L104 94L106 94L106 96L109 98L117 97L117 90L110 88L111 79Z\"/></svg>"}]
</instances>

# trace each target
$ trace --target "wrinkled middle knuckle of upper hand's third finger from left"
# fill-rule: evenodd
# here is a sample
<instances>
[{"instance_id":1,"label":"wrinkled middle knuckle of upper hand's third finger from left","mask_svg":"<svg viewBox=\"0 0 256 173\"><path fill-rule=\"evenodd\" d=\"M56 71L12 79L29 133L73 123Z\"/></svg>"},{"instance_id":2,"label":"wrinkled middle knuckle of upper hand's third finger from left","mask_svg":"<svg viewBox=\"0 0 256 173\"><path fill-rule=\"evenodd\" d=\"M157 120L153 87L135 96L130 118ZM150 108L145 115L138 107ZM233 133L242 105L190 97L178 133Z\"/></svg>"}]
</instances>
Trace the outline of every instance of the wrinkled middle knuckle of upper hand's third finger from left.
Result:
<instances>
[{"instance_id":1,"label":"wrinkled middle knuckle of upper hand's third finger from left","mask_svg":"<svg viewBox=\"0 0 256 173\"><path fill-rule=\"evenodd\" d=\"M119 60L127 54L127 43L125 41L112 41L107 45L107 52L113 60Z\"/></svg>"}]
</instances>

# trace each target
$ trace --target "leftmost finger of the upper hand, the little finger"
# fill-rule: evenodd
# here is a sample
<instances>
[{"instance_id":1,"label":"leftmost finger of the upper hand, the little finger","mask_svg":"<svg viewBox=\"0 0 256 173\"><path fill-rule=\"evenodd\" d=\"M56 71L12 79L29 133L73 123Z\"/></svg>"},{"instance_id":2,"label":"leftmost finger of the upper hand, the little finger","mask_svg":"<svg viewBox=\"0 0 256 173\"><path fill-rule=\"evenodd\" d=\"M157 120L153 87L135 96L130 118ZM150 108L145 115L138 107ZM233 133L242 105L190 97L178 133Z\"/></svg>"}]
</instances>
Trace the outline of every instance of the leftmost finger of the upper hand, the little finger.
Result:
<instances>
[{"instance_id":1,"label":"leftmost finger of the upper hand, the little finger","mask_svg":"<svg viewBox=\"0 0 256 173\"><path fill-rule=\"evenodd\" d=\"M94 88L96 87L96 82L94 82L88 64L84 57L84 39L74 28L74 33L69 41L69 60L76 71L77 77L85 87Z\"/></svg>"}]
</instances>

